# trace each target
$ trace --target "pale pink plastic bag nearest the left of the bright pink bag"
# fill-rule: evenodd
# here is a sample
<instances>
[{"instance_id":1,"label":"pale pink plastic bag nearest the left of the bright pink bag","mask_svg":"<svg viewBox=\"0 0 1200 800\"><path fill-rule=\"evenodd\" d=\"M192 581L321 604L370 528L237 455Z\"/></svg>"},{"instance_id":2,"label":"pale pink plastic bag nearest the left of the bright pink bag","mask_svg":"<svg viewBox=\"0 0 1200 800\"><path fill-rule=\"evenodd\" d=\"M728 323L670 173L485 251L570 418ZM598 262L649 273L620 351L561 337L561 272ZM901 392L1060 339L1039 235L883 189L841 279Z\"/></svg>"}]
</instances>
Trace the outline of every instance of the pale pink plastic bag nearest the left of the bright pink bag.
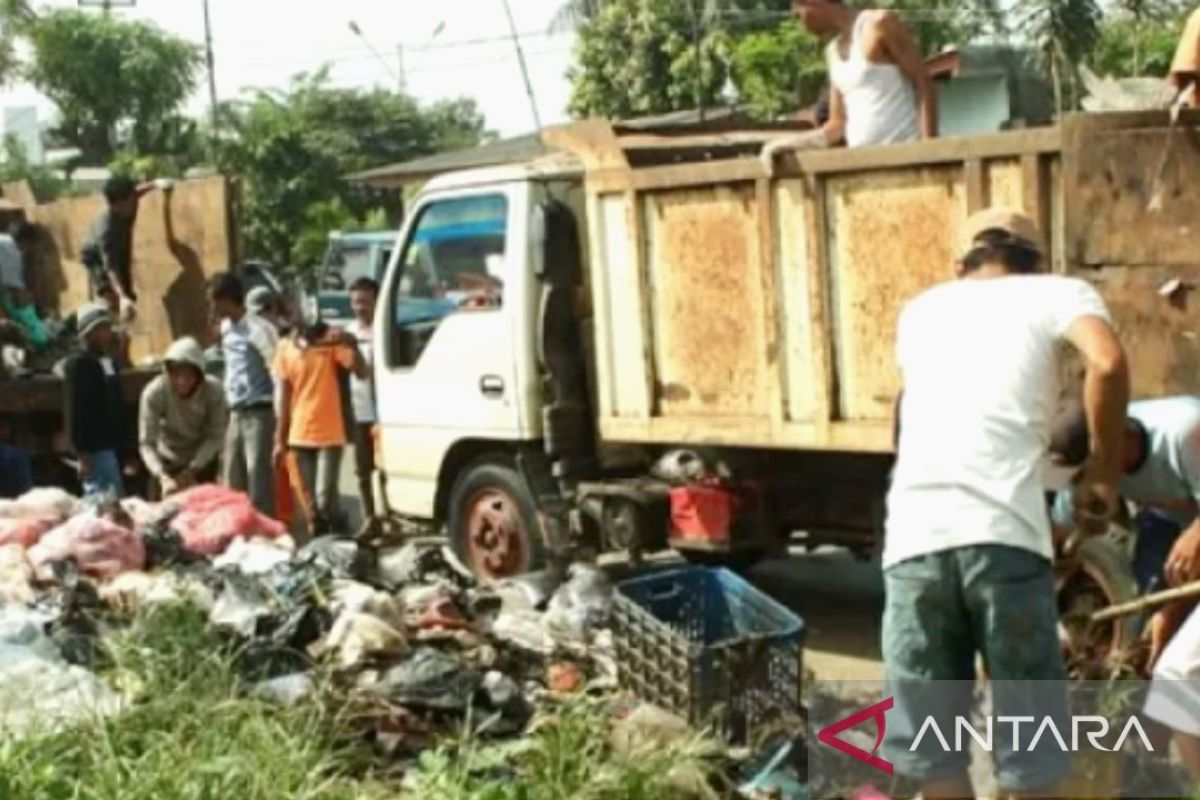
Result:
<instances>
[{"instance_id":1,"label":"pale pink plastic bag nearest the left of the bright pink bag","mask_svg":"<svg viewBox=\"0 0 1200 800\"><path fill-rule=\"evenodd\" d=\"M29 549L29 561L38 572L56 561L74 559L84 575L115 578L145 569L146 548L128 528L95 513L80 513L42 536Z\"/></svg>"}]
</instances>

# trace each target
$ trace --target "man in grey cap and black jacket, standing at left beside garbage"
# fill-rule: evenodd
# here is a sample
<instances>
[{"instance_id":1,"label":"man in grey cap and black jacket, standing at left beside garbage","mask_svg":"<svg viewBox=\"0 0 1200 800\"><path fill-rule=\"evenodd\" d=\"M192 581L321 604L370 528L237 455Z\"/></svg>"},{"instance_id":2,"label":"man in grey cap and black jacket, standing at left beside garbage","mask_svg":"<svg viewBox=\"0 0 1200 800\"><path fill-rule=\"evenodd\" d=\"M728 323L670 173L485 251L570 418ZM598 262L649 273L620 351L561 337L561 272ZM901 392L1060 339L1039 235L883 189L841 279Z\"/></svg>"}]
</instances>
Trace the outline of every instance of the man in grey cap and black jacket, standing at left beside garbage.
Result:
<instances>
[{"instance_id":1,"label":"man in grey cap and black jacket, standing at left beside garbage","mask_svg":"<svg viewBox=\"0 0 1200 800\"><path fill-rule=\"evenodd\" d=\"M76 313L82 351L64 369L64 417L67 441L79 459L85 495L125 491L120 450L125 441L125 404L118 371L108 354L113 347L113 318L98 303Z\"/></svg>"}]
</instances>

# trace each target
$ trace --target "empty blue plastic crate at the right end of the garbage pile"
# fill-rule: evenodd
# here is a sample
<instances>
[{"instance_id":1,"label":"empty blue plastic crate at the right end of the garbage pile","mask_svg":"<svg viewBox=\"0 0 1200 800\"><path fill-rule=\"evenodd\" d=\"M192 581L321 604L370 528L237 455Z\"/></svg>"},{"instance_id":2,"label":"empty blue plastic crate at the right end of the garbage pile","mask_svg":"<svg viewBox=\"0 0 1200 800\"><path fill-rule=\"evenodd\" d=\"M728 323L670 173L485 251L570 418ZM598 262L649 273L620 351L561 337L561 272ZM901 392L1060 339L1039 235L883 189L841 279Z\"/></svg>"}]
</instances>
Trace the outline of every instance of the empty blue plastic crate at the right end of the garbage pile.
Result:
<instances>
[{"instance_id":1,"label":"empty blue plastic crate at the right end of the garbage pile","mask_svg":"<svg viewBox=\"0 0 1200 800\"><path fill-rule=\"evenodd\" d=\"M728 570L617 587L622 686L737 744L797 717L804 621Z\"/></svg>"}]
</instances>

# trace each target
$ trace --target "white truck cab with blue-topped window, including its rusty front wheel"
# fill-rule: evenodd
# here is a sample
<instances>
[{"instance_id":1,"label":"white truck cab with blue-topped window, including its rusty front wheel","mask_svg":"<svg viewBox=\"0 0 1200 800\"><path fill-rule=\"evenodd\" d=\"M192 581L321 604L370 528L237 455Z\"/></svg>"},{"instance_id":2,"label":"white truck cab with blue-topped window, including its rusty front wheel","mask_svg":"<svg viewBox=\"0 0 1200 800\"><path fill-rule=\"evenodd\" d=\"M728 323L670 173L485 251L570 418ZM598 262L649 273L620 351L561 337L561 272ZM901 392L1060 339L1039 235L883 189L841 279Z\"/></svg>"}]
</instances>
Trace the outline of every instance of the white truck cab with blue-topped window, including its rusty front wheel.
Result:
<instances>
[{"instance_id":1,"label":"white truck cab with blue-topped window, including its rusty front wheel","mask_svg":"<svg viewBox=\"0 0 1200 800\"><path fill-rule=\"evenodd\" d=\"M581 170L503 167L431 181L410 206L376 313L386 511L444 522L485 577L536 567L518 461L540 453L545 206L582 209Z\"/></svg>"}]
</instances>

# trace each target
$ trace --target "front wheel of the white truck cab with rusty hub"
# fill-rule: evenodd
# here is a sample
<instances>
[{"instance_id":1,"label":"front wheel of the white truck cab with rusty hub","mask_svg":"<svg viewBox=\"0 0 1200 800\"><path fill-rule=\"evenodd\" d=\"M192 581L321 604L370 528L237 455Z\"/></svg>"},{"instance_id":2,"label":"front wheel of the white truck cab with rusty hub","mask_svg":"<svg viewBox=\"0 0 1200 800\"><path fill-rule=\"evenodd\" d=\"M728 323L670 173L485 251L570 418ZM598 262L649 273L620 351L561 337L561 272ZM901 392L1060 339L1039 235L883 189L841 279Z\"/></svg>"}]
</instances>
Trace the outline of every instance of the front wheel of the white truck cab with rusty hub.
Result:
<instances>
[{"instance_id":1,"label":"front wheel of the white truck cab with rusty hub","mask_svg":"<svg viewBox=\"0 0 1200 800\"><path fill-rule=\"evenodd\" d=\"M541 569L546 560L538 512L510 461L468 464L450 489L450 546L480 581Z\"/></svg>"}]
</instances>

